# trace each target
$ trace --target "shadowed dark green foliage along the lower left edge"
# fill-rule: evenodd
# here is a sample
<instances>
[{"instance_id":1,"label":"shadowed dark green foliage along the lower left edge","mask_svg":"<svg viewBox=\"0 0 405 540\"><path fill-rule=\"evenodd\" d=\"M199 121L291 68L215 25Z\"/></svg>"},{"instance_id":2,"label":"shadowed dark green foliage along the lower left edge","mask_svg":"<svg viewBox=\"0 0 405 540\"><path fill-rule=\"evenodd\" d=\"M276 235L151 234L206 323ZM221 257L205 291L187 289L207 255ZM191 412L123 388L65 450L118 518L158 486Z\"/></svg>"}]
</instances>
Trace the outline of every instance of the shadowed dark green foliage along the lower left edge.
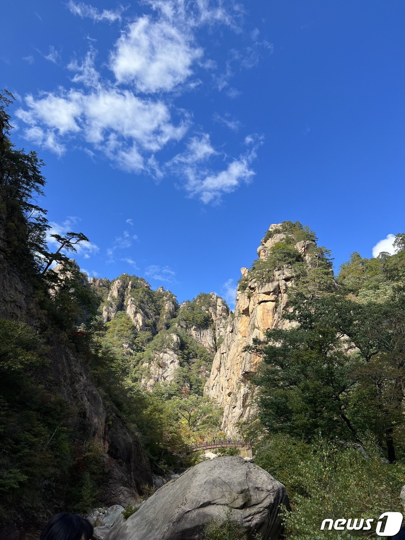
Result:
<instances>
[{"instance_id":1,"label":"shadowed dark green foliage along the lower left edge","mask_svg":"<svg viewBox=\"0 0 405 540\"><path fill-rule=\"evenodd\" d=\"M38 380L48 363L28 325L0 320L0 512L16 502L39 509L66 482L71 411Z\"/></svg>"}]
</instances>

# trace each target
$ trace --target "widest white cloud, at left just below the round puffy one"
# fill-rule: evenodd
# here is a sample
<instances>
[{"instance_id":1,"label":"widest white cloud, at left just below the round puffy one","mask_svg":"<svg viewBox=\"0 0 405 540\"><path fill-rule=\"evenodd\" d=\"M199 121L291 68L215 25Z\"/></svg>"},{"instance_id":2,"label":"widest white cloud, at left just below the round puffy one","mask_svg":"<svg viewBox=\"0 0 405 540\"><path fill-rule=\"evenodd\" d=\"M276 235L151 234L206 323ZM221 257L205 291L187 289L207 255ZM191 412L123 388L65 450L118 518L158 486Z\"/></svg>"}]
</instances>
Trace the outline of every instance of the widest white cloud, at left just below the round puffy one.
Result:
<instances>
[{"instance_id":1,"label":"widest white cloud, at left just below the round puffy one","mask_svg":"<svg viewBox=\"0 0 405 540\"><path fill-rule=\"evenodd\" d=\"M118 167L129 172L144 168L144 152L156 152L171 140L180 140L190 121L186 114L177 125L160 100L140 99L133 93L99 87L90 93L59 89L35 99L26 96L28 109L17 118L28 124L25 137L62 154L60 136L80 137Z\"/></svg>"}]
</instances>

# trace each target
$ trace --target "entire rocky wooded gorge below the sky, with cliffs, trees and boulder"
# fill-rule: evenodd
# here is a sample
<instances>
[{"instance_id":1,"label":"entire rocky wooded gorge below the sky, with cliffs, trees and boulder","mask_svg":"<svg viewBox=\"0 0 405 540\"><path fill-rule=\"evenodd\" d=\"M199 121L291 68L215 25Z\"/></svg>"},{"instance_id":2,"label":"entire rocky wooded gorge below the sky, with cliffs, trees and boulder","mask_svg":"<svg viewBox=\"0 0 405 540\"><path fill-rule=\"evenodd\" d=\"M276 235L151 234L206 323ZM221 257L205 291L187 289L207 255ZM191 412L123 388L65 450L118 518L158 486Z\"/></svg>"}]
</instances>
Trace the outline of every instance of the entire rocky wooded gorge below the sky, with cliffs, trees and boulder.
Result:
<instances>
[{"instance_id":1,"label":"entire rocky wooded gorge below the sky, with cliffs, trees and boulder","mask_svg":"<svg viewBox=\"0 0 405 540\"><path fill-rule=\"evenodd\" d=\"M335 275L308 226L273 224L234 311L89 279L84 233L52 251L43 163L0 112L0 538L65 511L96 540L323 540L325 516L401 514L405 234Z\"/></svg>"}]
</instances>

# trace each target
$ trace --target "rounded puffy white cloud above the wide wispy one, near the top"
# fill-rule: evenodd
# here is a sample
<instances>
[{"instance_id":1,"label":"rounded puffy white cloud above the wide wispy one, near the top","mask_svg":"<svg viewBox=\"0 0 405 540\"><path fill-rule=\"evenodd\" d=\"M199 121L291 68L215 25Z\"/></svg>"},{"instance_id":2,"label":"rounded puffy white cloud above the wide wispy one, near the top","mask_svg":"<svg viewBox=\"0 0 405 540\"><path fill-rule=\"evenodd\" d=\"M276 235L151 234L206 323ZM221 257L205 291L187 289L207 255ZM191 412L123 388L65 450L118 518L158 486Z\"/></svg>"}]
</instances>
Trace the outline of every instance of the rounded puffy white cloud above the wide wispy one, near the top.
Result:
<instances>
[{"instance_id":1,"label":"rounded puffy white cloud above the wide wispy one, near the top","mask_svg":"<svg viewBox=\"0 0 405 540\"><path fill-rule=\"evenodd\" d=\"M133 83L138 92L171 91L192 75L193 62L202 56L191 34L143 16L118 39L110 67L118 83Z\"/></svg>"}]
</instances>

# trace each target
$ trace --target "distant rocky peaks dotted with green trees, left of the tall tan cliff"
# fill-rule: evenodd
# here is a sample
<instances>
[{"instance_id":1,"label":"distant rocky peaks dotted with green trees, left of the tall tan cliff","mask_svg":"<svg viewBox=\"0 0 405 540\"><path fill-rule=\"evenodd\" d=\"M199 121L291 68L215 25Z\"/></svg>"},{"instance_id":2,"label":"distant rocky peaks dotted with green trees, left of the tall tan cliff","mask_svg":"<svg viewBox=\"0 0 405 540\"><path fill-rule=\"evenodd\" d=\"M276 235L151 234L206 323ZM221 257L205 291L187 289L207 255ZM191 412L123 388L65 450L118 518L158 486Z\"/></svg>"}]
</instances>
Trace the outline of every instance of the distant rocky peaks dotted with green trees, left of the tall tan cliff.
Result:
<instances>
[{"instance_id":1,"label":"distant rocky peaks dotted with green trees, left of the tall tan cliff","mask_svg":"<svg viewBox=\"0 0 405 540\"><path fill-rule=\"evenodd\" d=\"M201 293L179 306L173 293L163 287L153 291L137 276L91 278L90 284L102 299L99 312L107 327L118 324L117 317L132 322L133 339L123 339L120 347L143 388L151 391L178 379L188 389L203 386L225 336L229 308L220 296Z\"/></svg>"}]
</instances>

